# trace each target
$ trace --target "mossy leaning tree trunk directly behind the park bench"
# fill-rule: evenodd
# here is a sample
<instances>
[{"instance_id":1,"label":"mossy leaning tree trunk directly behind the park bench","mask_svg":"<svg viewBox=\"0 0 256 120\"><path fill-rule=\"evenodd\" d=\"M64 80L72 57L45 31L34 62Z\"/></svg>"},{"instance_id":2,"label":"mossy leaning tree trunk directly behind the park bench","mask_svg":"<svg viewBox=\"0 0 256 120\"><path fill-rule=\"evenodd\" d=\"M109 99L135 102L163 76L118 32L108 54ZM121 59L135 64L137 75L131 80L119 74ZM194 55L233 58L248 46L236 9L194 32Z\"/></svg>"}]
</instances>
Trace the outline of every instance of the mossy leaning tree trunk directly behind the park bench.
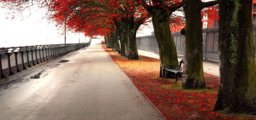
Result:
<instances>
[{"instance_id":1,"label":"mossy leaning tree trunk directly behind the park bench","mask_svg":"<svg viewBox=\"0 0 256 120\"><path fill-rule=\"evenodd\" d=\"M156 36L156 41L159 48L160 57L160 75L163 76L162 69L163 64L176 64L178 63L178 56L175 47L175 43L170 30L170 14L166 12L165 9L153 9L151 11L152 22L154 27L154 32ZM178 65L172 66L176 68Z\"/></svg>"}]
</instances>

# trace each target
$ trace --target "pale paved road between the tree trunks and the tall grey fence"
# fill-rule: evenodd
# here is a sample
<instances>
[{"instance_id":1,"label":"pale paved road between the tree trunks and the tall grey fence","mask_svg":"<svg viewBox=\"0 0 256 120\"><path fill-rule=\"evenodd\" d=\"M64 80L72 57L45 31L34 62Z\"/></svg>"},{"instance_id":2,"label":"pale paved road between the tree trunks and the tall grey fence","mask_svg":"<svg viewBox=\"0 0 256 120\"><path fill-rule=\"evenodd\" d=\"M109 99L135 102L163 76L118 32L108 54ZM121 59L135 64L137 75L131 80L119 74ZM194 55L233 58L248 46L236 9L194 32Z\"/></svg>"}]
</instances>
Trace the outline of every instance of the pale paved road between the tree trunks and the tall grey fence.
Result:
<instances>
[{"instance_id":1,"label":"pale paved road between the tree trunks and the tall grey fence","mask_svg":"<svg viewBox=\"0 0 256 120\"><path fill-rule=\"evenodd\" d=\"M151 57L159 60L159 52L155 51L146 51L146 50L138 50L138 53L143 56ZM183 56L178 56L178 60L180 61ZM219 62L204 60L203 61L204 72L207 74L211 74L214 76L220 76Z\"/></svg>"}]
</instances>

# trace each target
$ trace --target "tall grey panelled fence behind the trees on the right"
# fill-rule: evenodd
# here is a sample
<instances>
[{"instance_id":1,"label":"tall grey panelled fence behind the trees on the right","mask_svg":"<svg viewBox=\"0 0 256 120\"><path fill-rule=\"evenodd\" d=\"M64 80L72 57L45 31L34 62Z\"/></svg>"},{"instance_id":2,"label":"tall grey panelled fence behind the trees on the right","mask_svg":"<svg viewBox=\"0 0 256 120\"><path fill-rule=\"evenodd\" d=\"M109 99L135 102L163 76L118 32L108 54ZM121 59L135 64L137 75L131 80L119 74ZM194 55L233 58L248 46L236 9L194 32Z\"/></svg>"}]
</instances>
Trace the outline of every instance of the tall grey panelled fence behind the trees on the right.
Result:
<instances>
[{"instance_id":1,"label":"tall grey panelled fence behind the trees on the right","mask_svg":"<svg viewBox=\"0 0 256 120\"><path fill-rule=\"evenodd\" d=\"M255 33L256 23L253 23L254 46L256 51ZM185 36L180 32L172 33L175 42L177 54L183 55ZM203 58L211 60L219 60L218 42L219 27L203 29ZM155 35L136 37L137 48L151 51L159 51Z\"/></svg>"}]
</instances>

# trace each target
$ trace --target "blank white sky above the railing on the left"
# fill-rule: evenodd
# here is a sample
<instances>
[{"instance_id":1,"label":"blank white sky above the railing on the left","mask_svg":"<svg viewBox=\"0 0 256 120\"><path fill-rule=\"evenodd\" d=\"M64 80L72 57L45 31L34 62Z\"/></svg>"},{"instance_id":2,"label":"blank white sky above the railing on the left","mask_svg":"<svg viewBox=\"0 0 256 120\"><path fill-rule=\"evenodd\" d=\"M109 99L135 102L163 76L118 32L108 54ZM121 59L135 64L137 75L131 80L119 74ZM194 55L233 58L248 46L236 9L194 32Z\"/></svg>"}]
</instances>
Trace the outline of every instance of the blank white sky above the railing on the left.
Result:
<instances>
[{"instance_id":1,"label":"blank white sky above the railing on the left","mask_svg":"<svg viewBox=\"0 0 256 120\"><path fill-rule=\"evenodd\" d=\"M42 11L42 10L41 10ZM6 19L7 10L0 8L0 47L40 45L40 44L64 44L64 36L60 36L55 24L41 20L44 14L31 8L31 16L24 20ZM48 24L48 25L47 25ZM79 35L68 33L66 43L78 43ZM88 40L88 38L87 38ZM85 37L80 34L80 43L85 42ZM11 45L11 46L10 46Z\"/></svg>"}]
</instances>

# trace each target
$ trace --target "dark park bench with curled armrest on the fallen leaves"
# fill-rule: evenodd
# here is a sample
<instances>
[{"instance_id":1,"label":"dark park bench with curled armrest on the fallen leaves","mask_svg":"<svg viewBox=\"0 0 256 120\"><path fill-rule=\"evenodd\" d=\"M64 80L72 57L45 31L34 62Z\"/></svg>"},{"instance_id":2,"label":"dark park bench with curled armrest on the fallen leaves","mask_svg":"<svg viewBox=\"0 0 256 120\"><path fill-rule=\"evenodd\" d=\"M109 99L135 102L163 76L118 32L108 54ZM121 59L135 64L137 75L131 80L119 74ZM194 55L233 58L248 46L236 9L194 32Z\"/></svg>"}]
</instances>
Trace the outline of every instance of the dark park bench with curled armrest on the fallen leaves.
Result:
<instances>
[{"instance_id":1,"label":"dark park bench with curled armrest on the fallen leaves","mask_svg":"<svg viewBox=\"0 0 256 120\"><path fill-rule=\"evenodd\" d=\"M183 63L183 59L180 60L179 63L176 63L176 64L164 64L164 69L162 69L162 72L163 72L163 77L164 78L164 72L165 71L170 71L171 74L169 76L173 76L175 77L176 81L175 81L175 84L177 83L178 80L182 80L182 74L183 74L183 71L182 71L182 67L181 67L181 64ZM169 68L170 65L177 65L179 64L179 67L177 68Z\"/></svg>"}]
</instances>

